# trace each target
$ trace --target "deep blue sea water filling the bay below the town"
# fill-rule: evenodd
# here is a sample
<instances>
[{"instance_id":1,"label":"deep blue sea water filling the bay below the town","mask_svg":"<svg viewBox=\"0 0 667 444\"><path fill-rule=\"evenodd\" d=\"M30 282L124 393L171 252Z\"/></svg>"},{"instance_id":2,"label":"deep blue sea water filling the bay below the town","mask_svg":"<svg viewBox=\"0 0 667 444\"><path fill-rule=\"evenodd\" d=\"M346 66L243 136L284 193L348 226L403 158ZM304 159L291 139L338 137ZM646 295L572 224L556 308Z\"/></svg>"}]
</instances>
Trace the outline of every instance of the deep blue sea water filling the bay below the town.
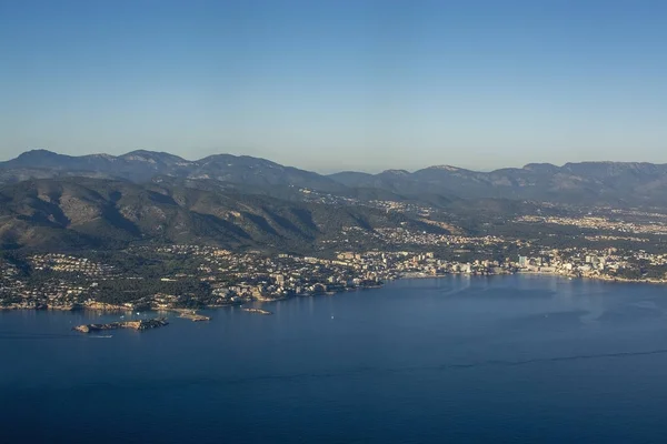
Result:
<instances>
[{"instance_id":1,"label":"deep blue sea water filling the bay below the town","mask_svg":"<svg viewBox=\"0 0 667 444\"><path fill-rule=\"evenodd\" d=\"M108 339L70 329L118 315L0 312L0 441L667 440L663 286L452 276L262 307Z\"/></svg>"}]
</instances>

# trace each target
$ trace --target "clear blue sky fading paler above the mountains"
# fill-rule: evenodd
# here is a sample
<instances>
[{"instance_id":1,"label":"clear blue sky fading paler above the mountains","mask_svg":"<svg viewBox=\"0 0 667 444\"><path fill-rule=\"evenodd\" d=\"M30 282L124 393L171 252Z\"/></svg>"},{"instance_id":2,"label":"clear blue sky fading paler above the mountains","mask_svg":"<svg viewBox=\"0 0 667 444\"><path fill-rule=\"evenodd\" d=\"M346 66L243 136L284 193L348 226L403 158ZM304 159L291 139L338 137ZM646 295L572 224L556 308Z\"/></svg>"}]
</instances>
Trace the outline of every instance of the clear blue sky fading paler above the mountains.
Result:
<instances>
[{"instance_id":1,"label":"clear blue sky fading paler above the mountains","mask_svg":"<svg viewBox=\"0 0 667 444\"><path fill-rule=\"evenodd\" d=\"M0 160L667 163L667 2L0 0Z\"/></svg>"}]
</instances>

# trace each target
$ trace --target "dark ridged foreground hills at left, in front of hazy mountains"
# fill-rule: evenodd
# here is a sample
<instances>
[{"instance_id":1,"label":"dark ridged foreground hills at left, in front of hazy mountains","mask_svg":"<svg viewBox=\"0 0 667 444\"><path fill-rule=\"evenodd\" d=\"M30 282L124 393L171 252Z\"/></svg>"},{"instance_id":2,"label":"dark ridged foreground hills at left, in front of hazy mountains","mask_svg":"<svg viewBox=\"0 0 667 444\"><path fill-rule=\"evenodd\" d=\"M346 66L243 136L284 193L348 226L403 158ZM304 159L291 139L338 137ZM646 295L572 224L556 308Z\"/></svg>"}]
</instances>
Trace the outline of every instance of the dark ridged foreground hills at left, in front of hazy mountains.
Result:
<instances>
[{"instance_id":1,"label":"dark ridged foreground hills at left, in front of hazy mountains","mask_svg":"<svg viewBox=\"0 0 667 444\"><path fill-rule=\"evenodd\" d=\"M352 230L346 238L354 238L398 226L447 232L365 205L285 201L170 183L60 178L0 188L0 249L113 249L143 242L311 252L317 242L340 240L344 230Z\"/></svg>"}]
</instances>

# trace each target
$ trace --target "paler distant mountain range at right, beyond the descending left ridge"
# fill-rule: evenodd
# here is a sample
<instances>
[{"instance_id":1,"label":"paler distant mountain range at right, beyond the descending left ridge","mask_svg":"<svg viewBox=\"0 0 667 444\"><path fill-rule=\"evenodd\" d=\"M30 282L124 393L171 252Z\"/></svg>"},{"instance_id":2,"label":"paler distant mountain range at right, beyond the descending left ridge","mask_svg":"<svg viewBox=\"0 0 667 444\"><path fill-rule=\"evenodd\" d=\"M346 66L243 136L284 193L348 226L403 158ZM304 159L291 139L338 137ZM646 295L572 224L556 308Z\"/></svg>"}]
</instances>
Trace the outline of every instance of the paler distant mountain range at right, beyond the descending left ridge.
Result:
<instances>
[{"instance_id":1,"label":"paler distant mountain range at right, beyond the descending left ridge","mask_svg":"<svg viewBox=\"0 0 667 444\"><path fill-rule=\"evenodd\" d=\"M415 172L341 172L330 178L348 186L374 186L399 194L424 192L464 199L500 198L568 204L667 204L667 165L581 162L531 163L490 172L441 165Z\"/></svg>"}]
</instances>

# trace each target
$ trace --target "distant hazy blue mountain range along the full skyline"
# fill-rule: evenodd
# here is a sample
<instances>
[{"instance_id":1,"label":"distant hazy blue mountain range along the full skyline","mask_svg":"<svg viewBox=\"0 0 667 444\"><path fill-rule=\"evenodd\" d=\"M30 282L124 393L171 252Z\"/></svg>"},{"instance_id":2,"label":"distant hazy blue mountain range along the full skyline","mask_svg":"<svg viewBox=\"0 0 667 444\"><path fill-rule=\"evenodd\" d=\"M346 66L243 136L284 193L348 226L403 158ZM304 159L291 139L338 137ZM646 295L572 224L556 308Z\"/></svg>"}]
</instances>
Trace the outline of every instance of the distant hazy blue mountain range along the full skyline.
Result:
<instances>
[{"instance_id":1,"label":"distant hazy blue mountain range along the full skyline","mask_svg":"<svg viewBox=\"0 0 667 444\"><path fill-rule=\"evenodd\" d=\"M447 199L516 199L575 204L661 205L667 203L667 165L584 162L556 167L532 163L477 172L430 167L415 172L379 174L340 172L322 175L251 157L217 154L188 161L163 152L133 151L123 155L69 157L46 150L28 151L0 162L0 182L84 175L136 183L155 176L212 180L251 188L302 188L340 195L374 193L386 199L439 195ZM361 191L360 191L361 190Z\"/></svg>"}]
</instances>

